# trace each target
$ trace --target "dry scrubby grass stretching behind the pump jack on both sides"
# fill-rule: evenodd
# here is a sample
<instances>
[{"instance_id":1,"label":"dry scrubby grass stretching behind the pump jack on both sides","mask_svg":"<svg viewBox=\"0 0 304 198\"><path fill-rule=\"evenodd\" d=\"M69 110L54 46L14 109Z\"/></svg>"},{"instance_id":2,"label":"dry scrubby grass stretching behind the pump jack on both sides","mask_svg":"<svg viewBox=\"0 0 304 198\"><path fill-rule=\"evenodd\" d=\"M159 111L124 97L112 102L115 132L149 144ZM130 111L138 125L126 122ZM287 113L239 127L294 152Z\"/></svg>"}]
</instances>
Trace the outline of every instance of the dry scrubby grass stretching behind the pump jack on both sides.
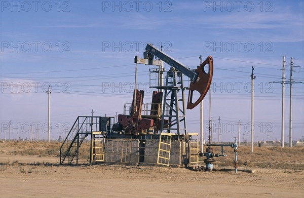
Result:
<instances>
[{"instance_id":1,"label":"dry scrubby grass stretching behind the pump jack on both sides","mask_svg":"<svg viewBox=\"0 0 304 198\"><path fill-rule=\"evenodd\" d=\"M61 143L11 141L0 143L0 154L9 155L36 155L59 157ZM214 153L220 153L220 147L213 147ZM226 157L215 158L216 166L233 166L234 152L231 147L224 147ZM84 142L80 147L80 159L83 163L89 162L90 144ZM251 153L250 146L239 147L240 168L271 168L285 170L304 170L304 146L289 147L254 147ZM200 159L203 160L203 159Z\"/></svg>"}]
</instances>

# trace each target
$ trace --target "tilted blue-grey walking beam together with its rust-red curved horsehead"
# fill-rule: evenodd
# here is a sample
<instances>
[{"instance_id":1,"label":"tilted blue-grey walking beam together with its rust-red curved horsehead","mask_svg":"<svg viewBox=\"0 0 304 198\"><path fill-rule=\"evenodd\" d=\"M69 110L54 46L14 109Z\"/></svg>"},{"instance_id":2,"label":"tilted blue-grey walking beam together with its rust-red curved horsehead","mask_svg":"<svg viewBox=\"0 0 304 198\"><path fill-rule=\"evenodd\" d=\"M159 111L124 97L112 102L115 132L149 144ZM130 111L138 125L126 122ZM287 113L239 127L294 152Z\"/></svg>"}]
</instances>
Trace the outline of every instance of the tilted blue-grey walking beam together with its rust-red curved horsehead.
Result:
<instances>
[{"instance_id":1,"label":"tilted blue-grey walking beam together with its rust-red curved horsehead","mask_svg":"<svg viewBox=\"0 0 304 198\"><path fill-rule=\"evenodd\" d=\"M211 56L208 56L207 59L195 70L187 68L185 65L173 59L166 53L158 50L155 46L151 44L147 44L143 56L144 58L149 59L149 64L153 62L154 56L156 56L166 62L168 65L174 67L177 71L180 71L181 73L190 78L191 83L189 86L187 109L193 109L194 107L196 107L206 96L213 75L213 59ZM207 64L209 65L208 73L206 73L204 70L204 67ZM201 96L198 98L197 101L192 102L194 91L198 91Z\"/></svg>"}]
</instances>

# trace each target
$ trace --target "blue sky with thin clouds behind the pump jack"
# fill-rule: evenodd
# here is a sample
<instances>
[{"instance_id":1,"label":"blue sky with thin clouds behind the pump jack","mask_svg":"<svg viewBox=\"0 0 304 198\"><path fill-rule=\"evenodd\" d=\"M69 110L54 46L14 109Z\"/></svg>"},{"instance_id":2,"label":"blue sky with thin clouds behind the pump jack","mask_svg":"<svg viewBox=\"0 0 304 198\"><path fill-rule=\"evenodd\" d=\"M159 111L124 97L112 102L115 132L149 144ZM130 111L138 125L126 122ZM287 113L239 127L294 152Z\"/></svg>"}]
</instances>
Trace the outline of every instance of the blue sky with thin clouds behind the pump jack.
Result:
<instances>
[{"instance_id":1,"label":"blue sky with thin clouds behind the pump jack","mask_svg":"<svg viewBox=\"0 0 304 198\"><path fill-rule=\"evenodd\" d=\"M280 140L282 85L270 82L281 81L283 55L286 78L293 57L294 65L301 65L293 78L304 82L303 7L302 1L1 1L1 137L9 121L13 138L29 137L28 123L37 123L41 137L47 137L48 85L53 139L92 108L94 115L122 113L123 104L132 101L134 56L142 57L149 42L163 45L190 68L200 55L213 57L211 115L215 128L221 117L226 141L237 135L239 120L249 140L254 66L254 139ZM144 103L151 100L148 68L138 68ZM287 142L288 84L285 93ZM303 99L303 84L294 84L293 140L304 135ZM206 97L205 123L208 104ZM186 116L188 131L199 132L199 107Z\"/></svg>"}]
</instances>

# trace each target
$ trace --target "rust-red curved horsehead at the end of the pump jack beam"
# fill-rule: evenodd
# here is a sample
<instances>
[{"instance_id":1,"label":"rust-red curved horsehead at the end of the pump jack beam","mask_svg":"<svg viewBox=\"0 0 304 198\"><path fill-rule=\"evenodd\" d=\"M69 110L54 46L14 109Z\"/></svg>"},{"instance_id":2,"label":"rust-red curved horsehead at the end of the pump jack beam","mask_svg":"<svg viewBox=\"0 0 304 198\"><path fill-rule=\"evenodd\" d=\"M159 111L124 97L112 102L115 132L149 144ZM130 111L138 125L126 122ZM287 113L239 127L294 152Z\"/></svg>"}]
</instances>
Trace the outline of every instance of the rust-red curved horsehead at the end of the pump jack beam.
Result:
<instances>
[{"instance_id":1,"label":"rust-red curved horsehead at the end of the pump jack beam","mask_svg":"<svg viewBox=\"0 0 304 198\"><path fill-rule=\"evenodd\" d=\"M206 73L204 70L206 64L209 65L208 73ZM204 99L209 90L213 75L212 57L208 56L208 58L206 58L206 60L204 60L204 62L200 66L198 66L197 69L195 69L195 71L198 73L198 77L194 83L190 83L187 109L193 109L194 107L196 107ZM198 91L201 95L197 101L192 102L194 91Z\"/></svg>"}]
</instances>

